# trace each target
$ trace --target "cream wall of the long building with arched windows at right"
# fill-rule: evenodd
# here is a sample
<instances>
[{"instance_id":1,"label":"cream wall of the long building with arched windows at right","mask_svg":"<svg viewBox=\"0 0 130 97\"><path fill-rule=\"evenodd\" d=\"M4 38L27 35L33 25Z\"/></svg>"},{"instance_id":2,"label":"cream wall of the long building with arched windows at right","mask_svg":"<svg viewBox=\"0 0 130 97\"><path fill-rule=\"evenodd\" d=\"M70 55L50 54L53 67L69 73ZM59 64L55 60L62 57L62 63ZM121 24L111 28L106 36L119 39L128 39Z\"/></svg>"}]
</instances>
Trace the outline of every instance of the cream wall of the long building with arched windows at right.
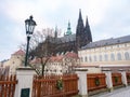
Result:
<instances>
[{"instance_id":1,"label":"cream wall of the long building with arched windows at right","mask_svg":"<svg viewBox=\"0 0 130 97\"><path fill-rule=\"evenodd\" d=\"M129 53L128 60L125 57L126 52ZM121 60L118 60L118 53L121 54ZM83 61L80 60L81 65L130 65L130 43L80 50L78 51L78 54L79 58L83 59ZM105 54L107 55L107 60L105 60ZM110 54L114 54L115 60L110 59ZM100 60L100 55L102 55L102 60ZM94 60L94 56L96 56L96 61ZM87 61L84 61L86 57L88 58Z\"/></svg>"}]
</instances>

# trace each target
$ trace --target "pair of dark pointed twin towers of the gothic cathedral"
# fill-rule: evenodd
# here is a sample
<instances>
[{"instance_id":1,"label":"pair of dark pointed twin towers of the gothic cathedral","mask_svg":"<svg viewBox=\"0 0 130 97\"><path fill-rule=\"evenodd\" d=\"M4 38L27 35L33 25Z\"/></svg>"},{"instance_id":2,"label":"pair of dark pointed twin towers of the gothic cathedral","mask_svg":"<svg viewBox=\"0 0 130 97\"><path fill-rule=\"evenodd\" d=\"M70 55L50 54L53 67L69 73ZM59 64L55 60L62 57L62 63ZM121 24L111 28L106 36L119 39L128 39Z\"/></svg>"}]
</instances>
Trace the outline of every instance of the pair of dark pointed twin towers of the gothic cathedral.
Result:
<instances>
[{"instance_id":1,"label":"pair of dark pointed twin towers of the gothic cathedral","mask_svg":"<svg viewBox=\"0 0 130 97\"><path fill-rule=\"evenodd\" d=\"M87 18L86 26L83 25L81 10L80 10L79 11L78 24L77 24L77 28L76 28L77 50L80 48L81 46L87 45L90 42L92 42L92 36L91 36L89 22L88 22L88 18Z\"/></svg>"}]
</instances>

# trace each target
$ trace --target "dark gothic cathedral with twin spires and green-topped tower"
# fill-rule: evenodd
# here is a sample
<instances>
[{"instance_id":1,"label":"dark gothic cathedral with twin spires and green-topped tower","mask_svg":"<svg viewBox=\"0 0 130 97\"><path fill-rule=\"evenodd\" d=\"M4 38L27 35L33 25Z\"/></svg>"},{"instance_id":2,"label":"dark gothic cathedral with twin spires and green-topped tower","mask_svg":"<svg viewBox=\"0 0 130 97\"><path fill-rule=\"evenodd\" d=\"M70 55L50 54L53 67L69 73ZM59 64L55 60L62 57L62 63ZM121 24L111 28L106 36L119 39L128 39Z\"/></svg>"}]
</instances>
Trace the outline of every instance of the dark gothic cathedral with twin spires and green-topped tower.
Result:
<instances>
[{"instance_id":1,"label":"dark gothic cathedral with twin spires and green-topped tower","mask_svg":"<svg viewBox=\"0 0 130 97\"><path fill-rule=\"evenodd\" d=\"M58 38L57 31L55 30L54 38L47 38L46 41L50 44L48 44L48 50L53 48L48 52L52 53L53 55L61 55L67 52L78 53L78 50L81 48L81 46L92 42L92 34L88 17L86 18L84 25L81 10L79 10L79 17L75 33L72 32L70 23L68 22L67 31L64 33L64 37ZM42 46L44 46L47 42L42 43Z\"/></svg>"}]
</instances>

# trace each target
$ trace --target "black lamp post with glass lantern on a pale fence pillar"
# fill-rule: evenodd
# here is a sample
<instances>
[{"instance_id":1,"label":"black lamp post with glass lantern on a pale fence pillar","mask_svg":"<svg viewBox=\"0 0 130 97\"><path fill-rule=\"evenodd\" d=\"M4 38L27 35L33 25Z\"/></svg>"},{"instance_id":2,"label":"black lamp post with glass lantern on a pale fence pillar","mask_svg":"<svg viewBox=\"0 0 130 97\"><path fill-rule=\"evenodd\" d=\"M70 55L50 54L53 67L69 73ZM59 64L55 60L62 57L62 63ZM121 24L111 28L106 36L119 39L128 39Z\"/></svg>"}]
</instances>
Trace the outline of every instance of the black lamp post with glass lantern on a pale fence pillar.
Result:
<instances>
[{"instance_id":1,"label":"black lamp post with glass lantern on a pale fence pillar","mask_svg":"<svg viewBox=\"0 0 130 97\"><path fill-rule=\"evenodd\" d=\"M27 36L27 48L26 48L26 56L25 56L25 67L27 66L27 60L28 60L28 48L29 48L29 40L30 37L32 36L36 22L32 19L32 16L29 17L29 19L25 20L25 28L26 28L26 36Z\"/></svg>"}]
</instances>

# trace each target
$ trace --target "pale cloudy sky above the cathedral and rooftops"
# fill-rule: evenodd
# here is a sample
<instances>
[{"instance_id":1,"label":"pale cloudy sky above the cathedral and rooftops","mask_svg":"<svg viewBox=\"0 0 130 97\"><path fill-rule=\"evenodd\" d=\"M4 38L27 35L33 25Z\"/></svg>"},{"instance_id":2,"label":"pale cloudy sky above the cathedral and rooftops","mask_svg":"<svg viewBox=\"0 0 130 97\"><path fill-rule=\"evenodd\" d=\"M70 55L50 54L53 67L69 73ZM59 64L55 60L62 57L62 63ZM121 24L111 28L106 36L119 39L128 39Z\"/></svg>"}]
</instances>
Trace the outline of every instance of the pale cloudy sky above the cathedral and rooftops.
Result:
<instances>
[{"instance_id":1,"label":"pale cloudy sky above the cathedral and rooftops","mask_svg":"<svg viewBox=\"0 0 130 97\"><path fill-rule=\"evenodd\" d=\"M26 42L24 20L34 16L35 31L57 28L75 33L81 9L93 41L130 34L130 0L0 0L0 60L10 58Z\"/></svg>"}]
</instances>

